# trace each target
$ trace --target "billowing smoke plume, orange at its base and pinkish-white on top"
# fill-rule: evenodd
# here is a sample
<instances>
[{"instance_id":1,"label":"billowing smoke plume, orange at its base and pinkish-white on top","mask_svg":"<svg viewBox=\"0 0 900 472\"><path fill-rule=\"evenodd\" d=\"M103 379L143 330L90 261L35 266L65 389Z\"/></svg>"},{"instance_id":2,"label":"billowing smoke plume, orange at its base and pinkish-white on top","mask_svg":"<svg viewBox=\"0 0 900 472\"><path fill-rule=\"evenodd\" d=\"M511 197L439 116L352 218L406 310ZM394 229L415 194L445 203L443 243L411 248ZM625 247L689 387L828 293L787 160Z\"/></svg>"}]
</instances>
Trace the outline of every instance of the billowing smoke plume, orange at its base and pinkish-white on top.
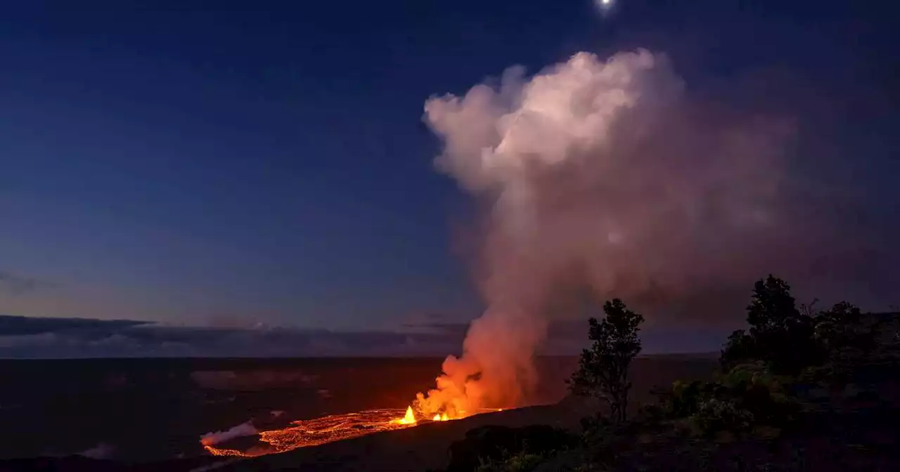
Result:
<instances>
[{"instance_id":1,"label":"billowing smoke plume, orange at its base and pinkish-white on top","mask_svg":"<svg viewBox=\"0 0 900 472\"><path fill-rule=\"evenodd\" d=\"M483 209L487 305L419 394L427 416L527 403L567 289L660 313L735 288L745 304L752 281L832 242L785 178L791 120L690 100L644 49L531 77L513 67L500 85L430 98L424 119L445 145L437 168Z\"/></svg>"}]
</instances>

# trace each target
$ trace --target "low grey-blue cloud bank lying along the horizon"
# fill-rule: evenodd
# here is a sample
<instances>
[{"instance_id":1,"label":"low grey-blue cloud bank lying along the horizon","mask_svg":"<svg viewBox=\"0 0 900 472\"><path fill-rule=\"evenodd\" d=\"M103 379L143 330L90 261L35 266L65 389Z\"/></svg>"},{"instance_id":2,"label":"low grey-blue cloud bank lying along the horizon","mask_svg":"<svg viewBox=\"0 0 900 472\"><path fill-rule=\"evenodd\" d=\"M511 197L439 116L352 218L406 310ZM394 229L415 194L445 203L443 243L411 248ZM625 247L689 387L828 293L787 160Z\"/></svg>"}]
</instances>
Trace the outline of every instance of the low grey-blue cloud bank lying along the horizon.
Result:
<instances>
[{"instance_id":1,"label":"low grey-blue cloud bank lying along the horizon","mask_svg":"<svg viewBox=\"0 0 900 472\"><path fill-rule=\"evenodd\" d=\"M157 325L138 320L0 315L0 359L120 357L445 356L462 346L467 323L404 325L395 332ZM713 352L728 329L654 327L644 352ZM587 321L557 322L547 354L574 354L587 343Z\"/></svg>"}]
</instances>

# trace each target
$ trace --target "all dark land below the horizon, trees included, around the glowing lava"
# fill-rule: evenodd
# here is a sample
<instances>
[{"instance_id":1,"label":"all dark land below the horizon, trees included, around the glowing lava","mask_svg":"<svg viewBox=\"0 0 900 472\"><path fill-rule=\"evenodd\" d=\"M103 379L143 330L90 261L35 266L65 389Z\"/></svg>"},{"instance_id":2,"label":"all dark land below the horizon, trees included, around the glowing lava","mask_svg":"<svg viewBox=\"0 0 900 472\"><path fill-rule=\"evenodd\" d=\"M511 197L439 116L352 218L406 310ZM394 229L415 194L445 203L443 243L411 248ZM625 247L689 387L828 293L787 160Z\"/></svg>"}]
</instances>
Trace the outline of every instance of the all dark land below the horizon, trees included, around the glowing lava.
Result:
<instances>
[{"instance_id":1,"label":"all dark land below the horizon, trees included, around the glowing lava","mask_svg":"<svg viewBox=\"0 0 900 472\"><path fill-rule=\"evenodd\" d=\"M366 424L381 432L321 443L306 441L319 430L301 426L287 437L309 447L253 458L204 455L198 440L249 421L240 437L214 442L239 454L261 447L254 432L283 433L291 420L400 414L431 386L439 361L5 362L2 443L23 459L0 460L0 472L900 470L900 314L864 314L847 302L801 310L771 275L752 293L748 329L731 334L718 359L635 359L642 318L616 300L602 324L591 321L581 361L540 360L535 406L391 430L380 428L390 418L346 415L342 432ZM567 396L576 369L580 396ZM610 373L626 369L630 378ZM630 402L617 404L624 397L611 391L628 391ZM330 433L332 420L308 423Z\"/></svg>"}]
</instances>

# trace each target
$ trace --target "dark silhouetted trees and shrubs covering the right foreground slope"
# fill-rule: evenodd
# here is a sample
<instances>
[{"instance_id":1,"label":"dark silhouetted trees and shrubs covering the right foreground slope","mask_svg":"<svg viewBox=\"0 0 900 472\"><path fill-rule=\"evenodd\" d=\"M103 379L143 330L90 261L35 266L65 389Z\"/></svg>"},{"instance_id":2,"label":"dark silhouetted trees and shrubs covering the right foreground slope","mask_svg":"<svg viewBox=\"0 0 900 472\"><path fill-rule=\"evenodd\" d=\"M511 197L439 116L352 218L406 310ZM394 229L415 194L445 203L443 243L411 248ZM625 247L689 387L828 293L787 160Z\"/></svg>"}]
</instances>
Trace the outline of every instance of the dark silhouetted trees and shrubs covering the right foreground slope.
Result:
<instances>
[{"instance_id":1,"label":"dark silhouetted trees and shrubs covering the right foreground slope","mask_svg":"<svg viewBox=\"0 0 900 472\"><path fill-rule=\"evenodd\" d=\"M641 352L644 317L610 300L603 319L589 320L592 343L569 380L573 394L605 405L582 419L580 446L495 448L477 456L477 464L470 458L466 470L900 467L892 446L898 402L879 394L900 377L896 318L864 314L845 301L814 307L798 308L777 277L757 281L748 326L728 337L712 381L676 381L629 418L628 370ZM860 439L860 431L867 437ZM572 453L580 458L575 463Z\"/></svg>"}]
</instances>

